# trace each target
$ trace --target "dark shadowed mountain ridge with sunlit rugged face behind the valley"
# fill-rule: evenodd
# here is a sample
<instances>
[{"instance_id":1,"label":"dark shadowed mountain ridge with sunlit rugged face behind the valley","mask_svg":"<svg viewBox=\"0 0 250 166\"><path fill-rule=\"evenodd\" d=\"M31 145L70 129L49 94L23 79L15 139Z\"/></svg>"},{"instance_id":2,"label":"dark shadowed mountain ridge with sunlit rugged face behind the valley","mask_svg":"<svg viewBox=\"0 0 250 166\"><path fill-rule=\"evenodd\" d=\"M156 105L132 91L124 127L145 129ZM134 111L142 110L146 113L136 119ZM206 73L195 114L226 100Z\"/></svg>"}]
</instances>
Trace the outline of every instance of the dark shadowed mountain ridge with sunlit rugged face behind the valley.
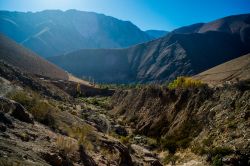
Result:
<instances>
[{"instance_id":1,"label":"dark shadowed mountain ridge with sunlit rugged face behind the valley","mask_svg":"<svg viewBox=\"0 0 250 166\"><path fill-rule=\"evenodd\" d=\"M250 14L230 16L183 27L126 49L83 49L49 60L98 82L171 81L249 53L249 18ZM220 22L221 27L214 22Z\"/></svg>"}]
</instances>

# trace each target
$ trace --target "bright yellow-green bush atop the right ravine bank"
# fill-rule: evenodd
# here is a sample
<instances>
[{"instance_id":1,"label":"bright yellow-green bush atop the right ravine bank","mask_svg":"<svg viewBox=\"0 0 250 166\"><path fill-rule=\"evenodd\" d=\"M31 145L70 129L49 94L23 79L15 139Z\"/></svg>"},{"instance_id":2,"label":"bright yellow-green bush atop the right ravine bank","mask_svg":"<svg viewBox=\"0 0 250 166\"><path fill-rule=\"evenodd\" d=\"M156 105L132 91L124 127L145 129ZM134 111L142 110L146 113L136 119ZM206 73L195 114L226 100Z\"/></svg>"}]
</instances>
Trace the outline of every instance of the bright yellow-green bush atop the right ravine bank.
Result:
<instances>
[{"instance_id":1,"label":"bright yellow-green bush atop the right ravine bank","mask_svg":"<svg viewBox=\"0 0 250 166\"><path fill-rule=\"evenodd\" d=\"M176 88L193 88L193 87L201 87L205 84L200 80L194 80L190 77L177 77L176 80L168 84L169 89Z\"/></svg>"}]
</instances>

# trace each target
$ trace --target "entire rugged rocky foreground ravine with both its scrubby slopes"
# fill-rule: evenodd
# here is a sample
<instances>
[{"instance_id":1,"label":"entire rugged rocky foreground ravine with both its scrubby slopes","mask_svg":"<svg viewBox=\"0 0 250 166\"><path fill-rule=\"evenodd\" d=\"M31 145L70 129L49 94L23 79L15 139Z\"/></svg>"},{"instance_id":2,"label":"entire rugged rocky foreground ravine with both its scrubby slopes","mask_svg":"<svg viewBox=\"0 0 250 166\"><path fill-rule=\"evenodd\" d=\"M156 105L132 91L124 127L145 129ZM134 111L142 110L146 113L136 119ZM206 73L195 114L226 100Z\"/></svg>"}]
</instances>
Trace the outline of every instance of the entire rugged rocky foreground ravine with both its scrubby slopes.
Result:
<instances>
[{"instance_id":1,"label":"entire rugged rocky foreground ravine with both its scrubby slopes","mask_svg":"<svg viewBox=\"0 0 250 166\"><path fill-rule=\"evenodd\" d=\"M85 86L3 69L9 74L0 79L0 165L249 164L249 82L84 97Z\"/></svg>"}]
</instances>

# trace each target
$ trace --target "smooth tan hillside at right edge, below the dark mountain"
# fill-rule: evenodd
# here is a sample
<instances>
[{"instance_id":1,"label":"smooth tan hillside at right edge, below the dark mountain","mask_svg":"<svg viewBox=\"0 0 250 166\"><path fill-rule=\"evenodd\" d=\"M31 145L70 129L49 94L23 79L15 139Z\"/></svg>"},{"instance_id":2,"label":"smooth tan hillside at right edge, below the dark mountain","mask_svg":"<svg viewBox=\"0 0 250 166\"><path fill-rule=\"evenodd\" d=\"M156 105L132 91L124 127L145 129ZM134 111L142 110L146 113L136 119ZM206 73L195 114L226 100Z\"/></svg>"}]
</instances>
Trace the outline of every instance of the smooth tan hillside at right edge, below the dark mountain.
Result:
<instances>
[{"instance_id":1,"label":"smooth tan hillside at right edge, below the dark mountain","mask_svg":"<svg viewBox=\"0 0 250 166\"><path fill-rule=\"evenodd\" d=\"M193 78L203 82L218 85L225 82L250 80L250 54L215 66Z\"/></svg>"}]
</instances>

